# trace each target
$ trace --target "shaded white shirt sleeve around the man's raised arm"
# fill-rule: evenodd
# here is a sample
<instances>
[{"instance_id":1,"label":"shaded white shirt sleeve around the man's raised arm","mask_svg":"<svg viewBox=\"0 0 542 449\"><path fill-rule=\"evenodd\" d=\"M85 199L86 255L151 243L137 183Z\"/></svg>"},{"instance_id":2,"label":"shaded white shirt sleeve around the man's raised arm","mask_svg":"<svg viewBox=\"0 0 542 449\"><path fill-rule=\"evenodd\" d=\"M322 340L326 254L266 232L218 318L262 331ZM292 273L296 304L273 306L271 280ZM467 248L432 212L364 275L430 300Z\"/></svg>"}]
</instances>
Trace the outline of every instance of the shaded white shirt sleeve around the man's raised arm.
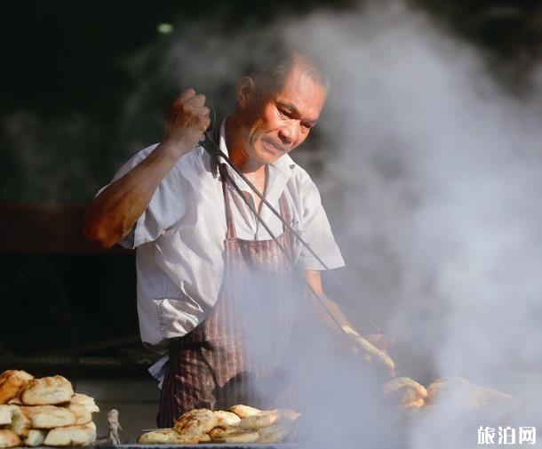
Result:
<instances>
[{"instance_id":1,"label":"shaded white shirt sleeve around the man's raised arm","mask_svg":"<svg viewBox=\"0 0 542 449\"><path fill-rule=\"evenodd\" d=\"M113 180L122 178L132 168L143 161L157 146L142 149L116 172ZM118 245L124 248L137 248L154 241L178 222L186 212L187 183L183 182L179 167L174 165L155 190L147 209L136 221L130 233ZM106 186L108 187L108 186ZM106 188L104 187L104 188ZM102 188L103 189L103 188ZM100 189L100 191L102 190ZM99 192L100 193L100 192Z\"/></svg>"}]
</instances>

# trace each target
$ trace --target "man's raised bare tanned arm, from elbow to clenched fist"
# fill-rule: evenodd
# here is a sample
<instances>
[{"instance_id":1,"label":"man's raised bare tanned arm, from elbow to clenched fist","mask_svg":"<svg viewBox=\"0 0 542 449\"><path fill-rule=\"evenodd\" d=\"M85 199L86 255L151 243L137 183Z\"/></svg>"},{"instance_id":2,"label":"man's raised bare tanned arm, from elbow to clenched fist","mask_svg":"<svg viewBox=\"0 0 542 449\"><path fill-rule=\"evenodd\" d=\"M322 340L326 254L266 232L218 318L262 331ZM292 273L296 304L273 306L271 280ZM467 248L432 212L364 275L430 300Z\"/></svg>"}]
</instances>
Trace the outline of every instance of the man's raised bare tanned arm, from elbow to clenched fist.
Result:
<instances>
[{"instance_id":1,"label":"man's raised bare tanned arm, from elbow to clenched fist","mask_svg":"<svg viewBox=\"0 0 542 449\"><path fill-rule=\"evenodd\" d=\"M195 147L209 124L205 97L194 89L182 92L168 112L162 143L94 198L85 214L84 236L110 248L128 235L160 182L179 158Z\"/></svg>"}]
</instances>

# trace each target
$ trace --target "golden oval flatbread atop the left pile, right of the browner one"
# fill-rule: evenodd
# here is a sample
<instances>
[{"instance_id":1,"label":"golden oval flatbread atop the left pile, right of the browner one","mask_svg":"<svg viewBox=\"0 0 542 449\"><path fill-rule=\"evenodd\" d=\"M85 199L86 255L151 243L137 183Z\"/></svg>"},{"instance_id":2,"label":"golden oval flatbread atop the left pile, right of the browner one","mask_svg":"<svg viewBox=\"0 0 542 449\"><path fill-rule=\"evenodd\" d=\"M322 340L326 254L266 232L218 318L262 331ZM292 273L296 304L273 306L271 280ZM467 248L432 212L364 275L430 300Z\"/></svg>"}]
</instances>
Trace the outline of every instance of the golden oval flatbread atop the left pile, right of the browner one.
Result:
<instances>
[{"instance_id":1,"label":"golden oval flatbread atop the left pile, right of the browner one","mask_svg":"<svg viewBox=\"0 0 542 449\"><path fill-rule=\"evenodd\" d=\"M20 395L24 405L56 405L69 402L74 396L71 382L63 376L34 379Z\"/></svg>"}]
</instances>

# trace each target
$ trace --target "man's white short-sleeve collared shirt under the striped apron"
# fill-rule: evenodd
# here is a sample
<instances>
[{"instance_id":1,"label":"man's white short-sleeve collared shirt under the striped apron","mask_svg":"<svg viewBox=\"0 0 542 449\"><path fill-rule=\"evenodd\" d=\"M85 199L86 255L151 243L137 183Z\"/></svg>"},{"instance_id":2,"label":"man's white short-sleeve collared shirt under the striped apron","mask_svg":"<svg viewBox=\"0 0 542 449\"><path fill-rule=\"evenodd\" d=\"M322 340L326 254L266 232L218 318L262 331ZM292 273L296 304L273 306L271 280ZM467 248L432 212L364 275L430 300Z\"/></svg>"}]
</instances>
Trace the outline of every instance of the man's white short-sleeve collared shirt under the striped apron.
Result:
<instances>
[{"instance_id":1,"label":"man's white short-sleeve collared shirt under the striped apron","mask_svg":"<svg viewBox=\"0 0 542 449\"><path fill-rule=\"evenodd\" d=\"M114 180L139 164L156 145L139 151ZM219 146L227 154L224 125ZM237 185L251 193L231 167L228 170ZM329 269L343 266L318 189L288 155L267 166L266 199L276 210L283 192L291 207L291 226ZM231 194L237 195L233 188ZM270 239L249 207L243 201L238 203L231 202L237 237ZM283 233L283 224L265 204L260 216L275 236ZM147 346L159 350L168 339L190 332L210 312L222 283L225 237L221 181L211 170L211 157L198 146L173 166L131 234L121 242L124 247L137 248L139 330ZM294 255L298 269L324 269L297 241Z\"/></svg>"}]
</instances>

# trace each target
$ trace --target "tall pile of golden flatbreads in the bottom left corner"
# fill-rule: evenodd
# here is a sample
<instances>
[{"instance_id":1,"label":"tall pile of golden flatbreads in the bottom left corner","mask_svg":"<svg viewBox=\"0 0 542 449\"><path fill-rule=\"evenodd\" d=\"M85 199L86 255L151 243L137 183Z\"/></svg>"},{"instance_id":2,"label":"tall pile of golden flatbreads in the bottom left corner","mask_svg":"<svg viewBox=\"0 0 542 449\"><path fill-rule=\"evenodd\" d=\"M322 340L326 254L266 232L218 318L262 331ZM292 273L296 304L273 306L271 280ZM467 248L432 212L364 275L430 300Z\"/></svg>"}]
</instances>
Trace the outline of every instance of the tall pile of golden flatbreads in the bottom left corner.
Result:
<instances>
[{"instance_id":1,"label":"tall pile of golden flatbreads in the bottom left corner","mask_svg":"<svg viewBox=\"0 0 542 449\"><path fill-rule=\"evenodd\" d=\"M96 439L95 412L94 399L74 393L65 377L0 374L0 447L88 445Z\"/></svg>"}]
</instances>

